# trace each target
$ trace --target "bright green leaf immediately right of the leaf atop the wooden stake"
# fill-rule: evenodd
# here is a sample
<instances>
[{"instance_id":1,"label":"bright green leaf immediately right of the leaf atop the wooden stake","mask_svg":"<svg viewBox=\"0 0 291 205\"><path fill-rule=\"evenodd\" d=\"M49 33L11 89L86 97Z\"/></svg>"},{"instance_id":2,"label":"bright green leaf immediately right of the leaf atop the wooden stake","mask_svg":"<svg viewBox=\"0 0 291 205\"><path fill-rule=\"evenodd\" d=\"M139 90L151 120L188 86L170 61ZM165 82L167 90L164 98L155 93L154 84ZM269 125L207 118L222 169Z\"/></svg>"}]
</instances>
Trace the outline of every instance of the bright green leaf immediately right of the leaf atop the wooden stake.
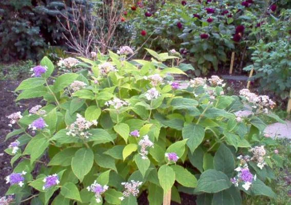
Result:
<instances>
[{"instance_id":1,"label":"bright green leaf immediately right of the leaf atop the wooden stake","mask_svg":"<svg viewBox=\"0 0 291 205\"><path fill-rule=\"evenodd\" d=\"M184 187L196 188L197 187L197 179L194 175L192 175L188 170L179 166L173 165L171 168L174 170L176 175L176 180L183 185Z\"/></svg>"}]
</instances>

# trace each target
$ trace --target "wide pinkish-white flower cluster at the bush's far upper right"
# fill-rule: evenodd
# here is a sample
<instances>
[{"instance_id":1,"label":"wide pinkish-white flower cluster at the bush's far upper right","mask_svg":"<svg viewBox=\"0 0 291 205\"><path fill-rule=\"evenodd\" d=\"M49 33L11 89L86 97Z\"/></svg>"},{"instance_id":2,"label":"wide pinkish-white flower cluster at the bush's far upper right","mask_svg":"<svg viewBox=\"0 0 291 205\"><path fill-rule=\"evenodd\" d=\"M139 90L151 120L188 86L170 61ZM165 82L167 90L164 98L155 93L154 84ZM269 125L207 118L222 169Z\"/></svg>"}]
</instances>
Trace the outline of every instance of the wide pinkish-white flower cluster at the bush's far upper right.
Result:
<instances>
[{"instance_id":1,"label":"wide pinkish-white flower cluster at the bush's far upper right","mask_svg":"<svg viewBox=\"0 0 291 205\"><path fill-rule=\"evenodd\" d=\"M248 103L253 104L253 108L263 109L265 113L268 113L268 108L273 109L276 106L276 103L269 96L257 95L246 88L240 90L240 95L243 95Z\"/></svg>"}]
</instances>

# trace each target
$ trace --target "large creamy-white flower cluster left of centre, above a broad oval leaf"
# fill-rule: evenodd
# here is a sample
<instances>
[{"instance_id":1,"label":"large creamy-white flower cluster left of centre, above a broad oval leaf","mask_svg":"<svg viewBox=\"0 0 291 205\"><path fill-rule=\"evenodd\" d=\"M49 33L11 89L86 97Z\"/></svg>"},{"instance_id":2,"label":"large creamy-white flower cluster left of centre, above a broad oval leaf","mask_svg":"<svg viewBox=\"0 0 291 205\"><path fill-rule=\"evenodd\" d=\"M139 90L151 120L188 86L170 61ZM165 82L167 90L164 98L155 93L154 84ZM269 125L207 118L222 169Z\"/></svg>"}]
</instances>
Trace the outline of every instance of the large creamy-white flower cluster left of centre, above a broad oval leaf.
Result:
<instances>
[{"instance_id":1,"label":"large creamy-white flower cluster left of centre, above a broad oval leaf","mask_svg":"<svg viewBox=\"0 0 291 205\"><path fill-rule=\"evenodd\" d=\"M89 138L91 135L87 130L92 126L97 126L98 122L96 120L88 121L79 113L77 114L77 119L70 126L67 127L67 135L70 136L80 136L82 138Z\"/></svg>"}]
</instances>

